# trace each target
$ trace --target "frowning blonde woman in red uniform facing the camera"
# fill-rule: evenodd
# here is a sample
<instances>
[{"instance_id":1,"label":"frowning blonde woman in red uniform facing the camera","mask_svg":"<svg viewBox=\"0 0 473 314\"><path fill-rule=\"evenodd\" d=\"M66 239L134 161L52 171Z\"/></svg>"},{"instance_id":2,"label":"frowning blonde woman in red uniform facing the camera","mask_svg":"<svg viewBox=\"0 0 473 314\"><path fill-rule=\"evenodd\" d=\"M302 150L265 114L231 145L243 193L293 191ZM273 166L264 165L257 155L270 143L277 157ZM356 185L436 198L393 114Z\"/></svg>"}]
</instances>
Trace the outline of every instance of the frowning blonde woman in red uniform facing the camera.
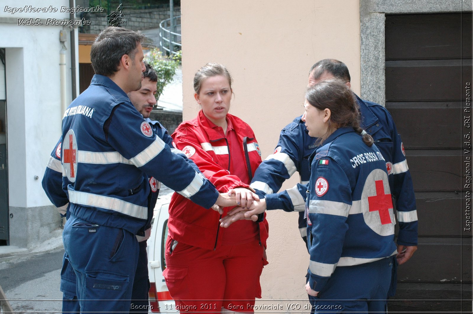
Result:
<instances>
[{"instance_id":1,"label":"frowning blonde woman in red uniform facing the camera","mask_svg":"<svg viewBox=\"0 0 473 314\"><path fill-rule=\"evenodd\" d=\"M253 130L228 113L232 78L219 64L208 63L194 76L194 98L201 110L173 134L175 145L192 159L220 191L236 188L241 206L252 197L249 187L261 163ZM200 207L175 193L169 206L164 277L181 312L253 313L261 297L259 278L268 223L242 220L219 227L223 214ZM244 272L242 272L244 270Z\"/></svg>"}]
</instances>

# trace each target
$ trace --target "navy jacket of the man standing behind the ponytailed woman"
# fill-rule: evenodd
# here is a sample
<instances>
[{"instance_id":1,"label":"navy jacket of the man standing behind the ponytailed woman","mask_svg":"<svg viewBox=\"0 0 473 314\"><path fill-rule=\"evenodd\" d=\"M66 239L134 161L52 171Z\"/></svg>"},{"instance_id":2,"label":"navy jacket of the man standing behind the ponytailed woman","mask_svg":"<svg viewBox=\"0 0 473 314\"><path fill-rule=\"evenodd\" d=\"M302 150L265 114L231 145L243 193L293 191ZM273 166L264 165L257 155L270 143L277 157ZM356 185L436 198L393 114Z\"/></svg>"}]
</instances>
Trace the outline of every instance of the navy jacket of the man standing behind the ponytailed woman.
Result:
<instances>
[{"instance_id":1,"label":"navy jacket of the man standing behind the ponytailed woman","mask_svg":"<svg viewBox=\"0 0 473 314\"><path fill-rule=\"evenodd\" d=\"M397 133L391 114L381 105L368 102L356 96L361 115L361 126L373 136L375 144L383 154L388 171L399 234L397 243L405 246L417 245L417 211L412 178L405 159L403 143ZM284 127L274 154L268 156L254 174L251 187L262 197L277 192L282 183L298 171L302 185L298 185L279 196L266 197L267 208L299 212L299 231L307 242L306 220L304 219L305 195L310 171L308 158L314 152L315 138L310 137L301 117Z\"/></svg>"}]
</instances>

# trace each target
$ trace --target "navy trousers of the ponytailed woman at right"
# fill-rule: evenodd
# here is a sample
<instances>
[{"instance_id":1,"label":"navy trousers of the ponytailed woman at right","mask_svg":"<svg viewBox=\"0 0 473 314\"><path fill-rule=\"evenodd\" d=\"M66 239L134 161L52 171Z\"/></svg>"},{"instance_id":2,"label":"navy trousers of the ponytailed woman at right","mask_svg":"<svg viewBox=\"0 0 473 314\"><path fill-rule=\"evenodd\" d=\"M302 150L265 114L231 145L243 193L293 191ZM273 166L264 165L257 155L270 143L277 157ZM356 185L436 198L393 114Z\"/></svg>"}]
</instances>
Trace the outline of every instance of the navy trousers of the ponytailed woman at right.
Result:
<instances>
[{"instance_id":1,"label":"navy trousers of the ponytailed woman at right","mask_svg":"<svg viewBox=\"0 0 473 314\"><path fill-rule=\"evenodd\" d=\"M395 256L335 268L317 297L309 296L311 313L387 313Z\"/></svg>"}]
</instances>

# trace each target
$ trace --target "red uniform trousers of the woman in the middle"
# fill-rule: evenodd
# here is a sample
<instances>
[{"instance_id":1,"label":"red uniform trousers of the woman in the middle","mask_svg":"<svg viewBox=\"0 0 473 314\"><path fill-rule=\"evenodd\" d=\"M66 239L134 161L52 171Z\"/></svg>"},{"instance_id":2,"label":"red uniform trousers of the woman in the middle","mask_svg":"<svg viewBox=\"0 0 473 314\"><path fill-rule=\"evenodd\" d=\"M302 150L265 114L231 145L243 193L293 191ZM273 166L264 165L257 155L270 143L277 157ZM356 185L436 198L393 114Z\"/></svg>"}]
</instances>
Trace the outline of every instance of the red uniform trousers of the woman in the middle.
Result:
<instances>
[{"instance_id":1,"label":"red uniform trousers of the woman in the middle","mask_svg":"<svg viewBox=\"0 0 473 314\"><path fill-rule=\"evenodd\" d=\"M171 249L171 246L174 246ZM166 241L163 275L176 311L254 313L254 298L261 297L263 246L258 237L241 245L207 250Z\"/></svg>"}]
</instances>

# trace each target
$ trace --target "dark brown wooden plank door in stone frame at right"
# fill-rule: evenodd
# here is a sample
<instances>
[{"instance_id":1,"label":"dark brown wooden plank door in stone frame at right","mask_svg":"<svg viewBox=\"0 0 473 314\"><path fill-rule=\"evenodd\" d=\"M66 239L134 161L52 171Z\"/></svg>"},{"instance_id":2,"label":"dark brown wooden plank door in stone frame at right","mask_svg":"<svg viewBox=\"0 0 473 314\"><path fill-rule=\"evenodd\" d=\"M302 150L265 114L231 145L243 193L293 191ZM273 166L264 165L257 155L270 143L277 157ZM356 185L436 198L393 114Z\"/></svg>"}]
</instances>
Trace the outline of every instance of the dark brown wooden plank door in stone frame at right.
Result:
<instances>
[{"instance_id":1,"label":"dark brown wooden plank door in stone frame at right","mask_svg":"<svg viewBox=\"0 0 473 314\"><path fill-rule=\"evenodd\" d=\"M419 249L398 268L390 311L471 311L472 238L463 232L462 101L472 15L386 15L386 108L403 137ZM410 301L406 301L410 300ZM427 301L431 300L431 301Z\"/></svg>"}]
</instances>

